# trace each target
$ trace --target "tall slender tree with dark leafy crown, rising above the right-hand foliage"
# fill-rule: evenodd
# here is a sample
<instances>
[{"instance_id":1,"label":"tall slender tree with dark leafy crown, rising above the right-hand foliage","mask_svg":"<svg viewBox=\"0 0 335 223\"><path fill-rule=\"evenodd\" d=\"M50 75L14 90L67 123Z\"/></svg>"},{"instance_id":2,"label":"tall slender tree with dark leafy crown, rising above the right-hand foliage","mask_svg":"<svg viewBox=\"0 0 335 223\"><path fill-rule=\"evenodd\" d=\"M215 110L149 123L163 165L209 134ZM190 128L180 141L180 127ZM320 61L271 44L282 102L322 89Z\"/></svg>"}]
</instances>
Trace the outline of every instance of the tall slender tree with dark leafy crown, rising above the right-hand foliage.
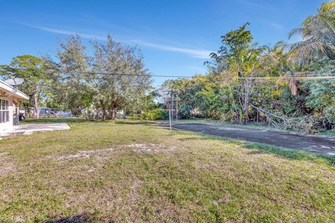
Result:
<instances>
[{"instance_id":1,"label":"tall slender tree with dark leafy crown, rising above the right-hand foliage","mask_svg":"<svg viewBox=\"0 0 335 223\"><path fill-rule=\"evenodd\" d=\"M239 115L239 121L244 123L248 120L248 107L253 94L253 82L248 77L259 75L261 68L260 57L267 47L253 45L251 31L246 30L244 24L239 29L230 31L221 36L222 46L217 53L211 53L214 59L214 70L223 79L229 79L223 85L232 86L230 91L238 98L238 103L232 101L234 112ZM241 79L239 79L241 78Z\"/></svg>"}]
</instances>

